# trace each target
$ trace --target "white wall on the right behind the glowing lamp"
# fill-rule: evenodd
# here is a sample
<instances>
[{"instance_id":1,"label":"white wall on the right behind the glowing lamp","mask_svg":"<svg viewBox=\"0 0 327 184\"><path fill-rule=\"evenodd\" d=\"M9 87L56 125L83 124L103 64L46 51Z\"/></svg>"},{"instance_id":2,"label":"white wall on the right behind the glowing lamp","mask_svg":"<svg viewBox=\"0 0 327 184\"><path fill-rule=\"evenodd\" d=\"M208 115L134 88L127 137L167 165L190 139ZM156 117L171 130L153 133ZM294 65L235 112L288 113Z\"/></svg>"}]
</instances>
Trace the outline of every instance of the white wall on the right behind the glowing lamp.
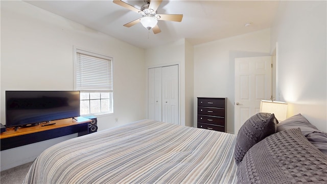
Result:
<instances>
[{"instance_id":1,"label":"white wall on the right behind the glowing lamp","mask_svg":"<svg viewBox=\"0 0 327 184\"><path fill-rule=\"evenodd\" d=\"M327 131L326 1L281 1L271 28L277 42L277 98Z\"/></svg>"}]
</instances>

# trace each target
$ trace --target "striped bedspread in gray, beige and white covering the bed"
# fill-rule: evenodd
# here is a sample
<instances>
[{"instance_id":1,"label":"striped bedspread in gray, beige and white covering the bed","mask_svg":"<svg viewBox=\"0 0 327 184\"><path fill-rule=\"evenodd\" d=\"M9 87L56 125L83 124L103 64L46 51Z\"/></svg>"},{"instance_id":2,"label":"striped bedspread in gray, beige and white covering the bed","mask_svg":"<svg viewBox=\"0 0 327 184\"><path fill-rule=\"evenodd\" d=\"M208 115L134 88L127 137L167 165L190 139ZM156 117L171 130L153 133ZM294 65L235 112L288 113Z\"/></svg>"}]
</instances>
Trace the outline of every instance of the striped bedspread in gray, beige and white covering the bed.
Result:
<instances>
[{"instance_id":1,"label":"striped bedspread in gray, beige and white covering the bed","mask_svg":"<svg viewBox=\"0 0 327 184\"><path fill-rule=\"evenodd\" d=\"M24 183L235 183L236 136L153 120L42 152Z\"/></svg>"}]
</instances>

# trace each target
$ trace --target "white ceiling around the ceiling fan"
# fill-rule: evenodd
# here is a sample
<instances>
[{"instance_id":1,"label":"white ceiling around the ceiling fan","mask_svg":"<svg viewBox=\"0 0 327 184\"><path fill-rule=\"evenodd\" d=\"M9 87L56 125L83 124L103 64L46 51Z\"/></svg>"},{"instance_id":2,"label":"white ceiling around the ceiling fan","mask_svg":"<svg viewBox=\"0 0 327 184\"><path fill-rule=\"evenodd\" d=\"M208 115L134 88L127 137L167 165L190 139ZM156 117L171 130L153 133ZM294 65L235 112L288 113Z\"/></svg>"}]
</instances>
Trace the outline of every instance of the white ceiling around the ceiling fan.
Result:
<instances>
[{"instance_id":1,"label":"white ceiling around the ceiling fan","mask_svg":"<svg viewBox=\"0 0 327 184\"><path fill-rule=\"evenodd\" d=\"M141 48L167 44L186 38L200 44L270 28L279 1L162 1L158 14L183 14L181 22L158 21L161 33L153 34L141 23L123 25L141 18L108 1L26 1L44 10L71 19ZM141 9L144 1L125 1ZM246 22L252 22L245 27Z\"/></svg>"}]
</instances>

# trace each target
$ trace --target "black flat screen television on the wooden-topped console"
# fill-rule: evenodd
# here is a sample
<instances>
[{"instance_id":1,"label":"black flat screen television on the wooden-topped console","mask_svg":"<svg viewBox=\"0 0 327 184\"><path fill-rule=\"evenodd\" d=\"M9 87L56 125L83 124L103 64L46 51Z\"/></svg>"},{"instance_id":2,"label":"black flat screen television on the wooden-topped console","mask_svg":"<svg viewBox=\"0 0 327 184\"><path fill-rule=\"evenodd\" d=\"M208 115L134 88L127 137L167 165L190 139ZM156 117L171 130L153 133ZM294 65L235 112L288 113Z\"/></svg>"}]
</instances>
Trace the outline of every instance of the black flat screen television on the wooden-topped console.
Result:
<instances>
[{"instance_id":1,"label":"black flat screen television on the wooden-topped console","mask_svg":"<svg viewBox=\"0 0 327 184\"><path fill-rule=\"evenodd\" d=\"M6 91L6 127L80 116L80 91Z\"/></svg>"}]
</instances>

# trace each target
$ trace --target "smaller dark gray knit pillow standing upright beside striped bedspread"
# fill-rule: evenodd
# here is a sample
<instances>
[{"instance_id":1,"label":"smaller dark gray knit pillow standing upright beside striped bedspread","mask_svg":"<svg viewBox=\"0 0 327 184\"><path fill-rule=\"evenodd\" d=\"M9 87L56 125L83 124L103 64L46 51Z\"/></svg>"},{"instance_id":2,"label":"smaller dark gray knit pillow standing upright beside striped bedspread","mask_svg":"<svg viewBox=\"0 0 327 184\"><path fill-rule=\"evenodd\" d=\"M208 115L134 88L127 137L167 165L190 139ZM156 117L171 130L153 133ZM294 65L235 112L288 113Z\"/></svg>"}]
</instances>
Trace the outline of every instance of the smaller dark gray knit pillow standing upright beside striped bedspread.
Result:
<instances>
[{"instance_id":1,"label":"smaller dark gray knit pillow standing upright beside striped bedspread","mask_svg":"<svg viewBox=\"0 0 327 184\"><path fill-rule=\"evenodd\" d=\"M274 114L260 112L249 118L240 128L235 145L236 164L242 161L245 153L256 143L276 132L277 120Z\"/></svg>"}]
</instances>

